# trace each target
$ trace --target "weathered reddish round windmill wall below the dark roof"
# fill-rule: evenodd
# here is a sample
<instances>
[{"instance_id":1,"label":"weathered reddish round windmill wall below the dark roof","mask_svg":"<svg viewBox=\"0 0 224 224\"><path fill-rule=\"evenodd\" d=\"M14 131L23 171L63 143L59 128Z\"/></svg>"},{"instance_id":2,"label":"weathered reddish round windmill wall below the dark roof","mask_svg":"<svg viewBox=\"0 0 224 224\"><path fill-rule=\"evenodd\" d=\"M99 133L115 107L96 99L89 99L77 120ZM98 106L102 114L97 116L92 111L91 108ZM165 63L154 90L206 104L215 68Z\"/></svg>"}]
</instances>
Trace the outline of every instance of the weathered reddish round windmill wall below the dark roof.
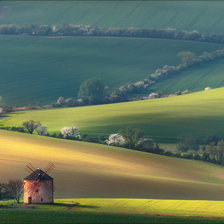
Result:
<instances>
[{"instance_id":1,"label":"weathered reddish round windmill wall below the dark roof","mask_svg":"<svg viewBox=\"0 0 224 224\"><path fill-rule=\"evenodd\" d=\"M53 180L24 180L24 203L53 203Z\"/></svg>"}]
</instances>

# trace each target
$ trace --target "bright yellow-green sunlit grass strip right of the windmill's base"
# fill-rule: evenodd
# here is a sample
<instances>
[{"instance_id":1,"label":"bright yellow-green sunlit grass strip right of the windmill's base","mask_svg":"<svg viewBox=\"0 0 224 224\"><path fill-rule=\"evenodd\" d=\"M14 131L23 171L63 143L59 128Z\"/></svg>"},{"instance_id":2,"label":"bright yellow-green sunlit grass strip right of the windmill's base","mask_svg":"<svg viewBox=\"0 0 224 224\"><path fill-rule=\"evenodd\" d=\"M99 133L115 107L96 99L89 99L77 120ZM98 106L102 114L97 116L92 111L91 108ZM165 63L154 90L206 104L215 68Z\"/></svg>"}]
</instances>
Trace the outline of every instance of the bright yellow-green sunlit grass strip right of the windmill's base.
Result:
<instances>
[{"instance_id":1,"label":"bright yellow-green sunlit grass strip right of the windmill's base","mask_svg":"<svg viewBox=\"0 0 224 224\"><path fill-rule=\"evenodd\" d=\"M161 199L127 199L127 198L73 198L56 199L57 203L71 206L81 211L113 212L130 214L160 214L182 216L224 217L224 201L198 201L198 200L161 200ZM72 204L78 204L72 207ZM37 206L39 207L39 206ZM42 207L42 206L40 206ZM46 206L54 209L54 206ZM59 207L60 209L60 207Z\"/></svg>"}]
</instances>

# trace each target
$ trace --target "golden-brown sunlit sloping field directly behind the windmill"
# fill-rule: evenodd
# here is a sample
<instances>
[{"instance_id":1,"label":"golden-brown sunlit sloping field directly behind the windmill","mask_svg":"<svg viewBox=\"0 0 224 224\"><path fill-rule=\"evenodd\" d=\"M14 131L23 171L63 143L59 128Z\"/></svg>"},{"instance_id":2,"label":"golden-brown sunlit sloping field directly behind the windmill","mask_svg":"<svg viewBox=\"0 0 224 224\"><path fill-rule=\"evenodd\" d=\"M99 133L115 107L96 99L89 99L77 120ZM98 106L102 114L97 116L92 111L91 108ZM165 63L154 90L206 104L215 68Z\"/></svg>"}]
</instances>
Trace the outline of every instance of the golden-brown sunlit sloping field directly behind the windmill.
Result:
<instances>
[{"instance_id":1,"label":"golden-brown sunlit sloping field directly behind the windmill","mask_svg":"<svg viewBox=\"0 0 224 224\"><path fill-rule=\"evenodd\" d=\"M223 168L104 145L0 131L0 181L56 165L56 197L223 200Z\"/></svg>"}]
</instances>

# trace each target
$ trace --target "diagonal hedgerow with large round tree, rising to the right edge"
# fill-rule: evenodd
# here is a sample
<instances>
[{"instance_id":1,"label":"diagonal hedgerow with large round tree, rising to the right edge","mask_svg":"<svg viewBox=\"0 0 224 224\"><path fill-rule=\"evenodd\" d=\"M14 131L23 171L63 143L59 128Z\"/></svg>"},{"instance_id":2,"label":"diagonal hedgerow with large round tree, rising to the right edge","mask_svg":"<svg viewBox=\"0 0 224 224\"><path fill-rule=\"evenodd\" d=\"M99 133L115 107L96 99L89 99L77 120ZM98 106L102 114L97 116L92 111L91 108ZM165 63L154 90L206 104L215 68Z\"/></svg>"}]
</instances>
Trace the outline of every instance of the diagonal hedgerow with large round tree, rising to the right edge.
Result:
<instances>
[{"instance_id":1,"label":"diagonal hedgerow with large round tree, rising to the right edge","mask_svg":"<svg viewBox=\"0 0 224 224\"><path fill-rule=\"evenodd\" d=\"M105 104L128 101L130 94L142 93L160 80L177 75L179 72L187 70L193 66L224 58L224 48L210 53L204 52L199 56L196 56L193 52L179 52L178 56L181 59L181 63L179 65L165 65L162 68L156 69L155 72L149 74L146 79L135 83L127 83L122 85L119 88L113 90L113 92L110 94L107 93L108 87L103 84L102 80L96 78L88 79L80 86L77 100L72 98L64 99L63 97L59 97L57 103L53 104L53 106L69 107L86 104ZM98 91L95 91L96 89L98 89ZM183 94L189 92L189 90L185 90L183 91ZM144 97L142 99L166 97L164 95L160 95L159 93L154 93L154 95L155 94L156 96L154 97L149 95L148 97ZM139 98L139 100L141 100L141 98Z\"/></svg>"}]
</instances>

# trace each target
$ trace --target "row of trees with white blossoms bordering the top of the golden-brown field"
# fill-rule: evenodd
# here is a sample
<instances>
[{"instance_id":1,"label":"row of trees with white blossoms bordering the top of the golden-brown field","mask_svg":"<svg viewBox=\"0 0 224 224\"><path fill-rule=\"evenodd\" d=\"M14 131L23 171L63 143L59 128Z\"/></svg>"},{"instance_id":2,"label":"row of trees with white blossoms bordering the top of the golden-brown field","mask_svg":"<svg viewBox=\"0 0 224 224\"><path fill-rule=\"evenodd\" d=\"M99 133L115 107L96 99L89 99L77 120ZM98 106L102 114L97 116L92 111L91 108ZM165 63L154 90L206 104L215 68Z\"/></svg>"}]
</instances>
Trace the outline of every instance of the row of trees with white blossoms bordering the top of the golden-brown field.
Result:
<instances>
[{"instance_id":1,"label":"row of trees with white blossoms bordering the top of the golden-brown field","mask_svg":"<svg viewBox=\"0 0 224 224\"><path fill-rule=\"evenodd\" d=\"M217 135L210 135L206 140L193 136L181 136L177 144L177 152L162 149L152 138L144 136L144 132L137 128L124 128L118 133L106 135L81 134L76 126L64 127L60 131L48 132L48 127L39 121L26 121L20 127L0 127L0 129L36 133L53 138L92 142L127 148L147 153L154 153L176 158L201 160L218 165L224 165L224 140Z\"/></svg>"}]
</instances>

